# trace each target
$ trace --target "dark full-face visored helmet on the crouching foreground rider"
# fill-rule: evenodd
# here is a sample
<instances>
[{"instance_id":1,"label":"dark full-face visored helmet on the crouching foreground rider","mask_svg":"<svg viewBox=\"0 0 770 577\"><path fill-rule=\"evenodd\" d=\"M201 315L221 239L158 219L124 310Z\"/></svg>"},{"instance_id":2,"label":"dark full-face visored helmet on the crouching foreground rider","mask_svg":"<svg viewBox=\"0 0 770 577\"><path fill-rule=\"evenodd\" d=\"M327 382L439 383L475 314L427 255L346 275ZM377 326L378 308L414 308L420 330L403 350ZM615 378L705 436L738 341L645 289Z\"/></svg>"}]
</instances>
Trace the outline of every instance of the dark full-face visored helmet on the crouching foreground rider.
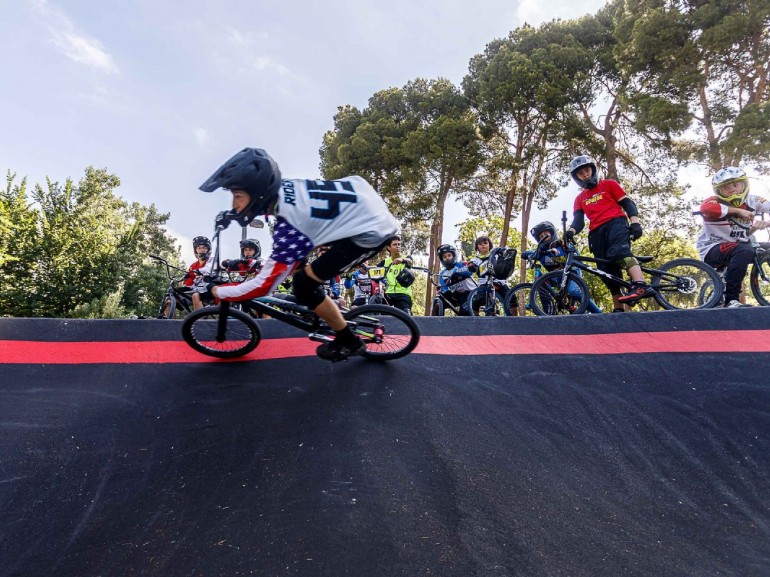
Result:
<instances>
[{"instance_id":1,"label":"dark full-face visored helmet on the crouching foreground rider","mask_svg":"<svg viewBox=\"0 0 770 577\"><path fill-rule=\"evenodd\" d=\"M241 212L230 211L230 219L246 226L255 217L265 214L278 198L281 171L270 155L261 148L244 148L220 166L200 189L214 192L218 188L240 189L251 200Z\"/></svg>"}]
</instances>

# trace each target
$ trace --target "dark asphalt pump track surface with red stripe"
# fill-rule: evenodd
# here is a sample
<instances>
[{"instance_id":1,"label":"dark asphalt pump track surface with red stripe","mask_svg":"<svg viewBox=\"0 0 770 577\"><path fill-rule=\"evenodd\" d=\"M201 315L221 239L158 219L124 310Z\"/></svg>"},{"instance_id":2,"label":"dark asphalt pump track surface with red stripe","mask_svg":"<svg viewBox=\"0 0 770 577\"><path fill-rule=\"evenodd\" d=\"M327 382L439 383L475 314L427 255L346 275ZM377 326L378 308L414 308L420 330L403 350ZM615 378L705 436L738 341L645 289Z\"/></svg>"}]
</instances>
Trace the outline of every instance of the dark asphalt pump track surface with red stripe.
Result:
<instances>
[{"instance_id":1,"label":"dark asphalt pump track surface with red stripe","mask_svg":"<svg viewBox=\"0 0 770 577\"><path fill-rule=\"evenodd\" d=\"M770 309L260 323L0 319L0 576L770 575Z\"/></svg>"}]
</instances>

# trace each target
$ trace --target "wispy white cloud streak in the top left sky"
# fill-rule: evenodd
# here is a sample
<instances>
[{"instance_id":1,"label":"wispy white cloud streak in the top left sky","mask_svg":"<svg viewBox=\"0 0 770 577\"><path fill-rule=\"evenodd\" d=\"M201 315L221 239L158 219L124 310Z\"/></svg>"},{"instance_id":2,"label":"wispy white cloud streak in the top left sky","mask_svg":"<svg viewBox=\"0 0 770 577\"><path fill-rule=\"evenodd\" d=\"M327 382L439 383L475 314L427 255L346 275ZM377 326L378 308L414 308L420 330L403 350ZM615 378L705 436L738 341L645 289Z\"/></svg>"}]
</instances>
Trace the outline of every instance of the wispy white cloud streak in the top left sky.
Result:
<instances>
[{"instance_id":1,"label":"wispy white cloud streak in the top left sky","mask_svg":"<svg viewBox=\"0 0 770 577\"><path fill-rule=\"evenodd\" d=\"M103 72L118 72L112 55L98 39L78 31L72 21L47 0L32 0L32 4L45 19L51 42L67 58Z\"/></svg>"}]
</instances>

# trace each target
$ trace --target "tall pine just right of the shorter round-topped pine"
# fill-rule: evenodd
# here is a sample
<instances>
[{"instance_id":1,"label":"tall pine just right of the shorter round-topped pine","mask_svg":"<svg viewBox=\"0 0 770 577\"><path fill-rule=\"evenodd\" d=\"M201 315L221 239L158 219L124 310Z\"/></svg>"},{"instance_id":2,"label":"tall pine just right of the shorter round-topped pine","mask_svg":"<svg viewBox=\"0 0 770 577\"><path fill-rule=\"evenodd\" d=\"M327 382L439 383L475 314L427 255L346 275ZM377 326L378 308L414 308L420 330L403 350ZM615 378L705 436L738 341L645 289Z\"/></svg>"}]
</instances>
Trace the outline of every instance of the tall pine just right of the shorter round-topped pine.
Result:
<instances>
[{"instance_id":1,"label":"tall pine just right of the shorter round-topped pine","mask_svg":"<svg viewBox=\"0 0 770 577\"><path fill-rule=\"evenodd\" d=\"M558 25L518 28L471 60L463 87L481 119L487 152L478 190L489 187L484 202L504 198L504 243L515 211L526 230L533 203L545 206L559 189L566 154L560 138L574 124L575 79L589 67L585 51Z\"/></svg>"}]
</instances>

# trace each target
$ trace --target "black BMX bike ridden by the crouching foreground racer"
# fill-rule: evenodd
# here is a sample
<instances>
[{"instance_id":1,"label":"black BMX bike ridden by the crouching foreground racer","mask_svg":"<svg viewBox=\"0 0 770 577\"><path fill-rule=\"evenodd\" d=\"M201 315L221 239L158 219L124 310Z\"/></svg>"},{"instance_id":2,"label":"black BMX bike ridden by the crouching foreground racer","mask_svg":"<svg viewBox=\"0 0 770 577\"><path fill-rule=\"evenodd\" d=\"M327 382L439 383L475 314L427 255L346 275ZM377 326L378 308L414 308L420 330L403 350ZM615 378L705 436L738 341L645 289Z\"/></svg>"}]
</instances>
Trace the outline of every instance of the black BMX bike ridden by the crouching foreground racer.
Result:
<instances>
[{"instance_id":1,"label":"black BMX bike ridden by the crouching foreground racer","mask_svg":"<svg viewBox=\"0 0 770 577\"><path fill-rule=\"evenodd\" d=\"M218 228L212 239L215 263L219 262ZM215 265L216 266L216 265ZM215 271L216 272L216 271ZM308 333L317 342L334 340L335 332L311 309L287 300L264 296L248 301L249 307ZM353 332L365 343L360 356L391 360L408 355L420 340L414 320L402 311L383 305L364 305L343 313ZM204 307L187 316L182 337L193 349L217 358L237 358L253 351L261 340L257 321L227 301Z\"/></svg>"}]
</instances>

